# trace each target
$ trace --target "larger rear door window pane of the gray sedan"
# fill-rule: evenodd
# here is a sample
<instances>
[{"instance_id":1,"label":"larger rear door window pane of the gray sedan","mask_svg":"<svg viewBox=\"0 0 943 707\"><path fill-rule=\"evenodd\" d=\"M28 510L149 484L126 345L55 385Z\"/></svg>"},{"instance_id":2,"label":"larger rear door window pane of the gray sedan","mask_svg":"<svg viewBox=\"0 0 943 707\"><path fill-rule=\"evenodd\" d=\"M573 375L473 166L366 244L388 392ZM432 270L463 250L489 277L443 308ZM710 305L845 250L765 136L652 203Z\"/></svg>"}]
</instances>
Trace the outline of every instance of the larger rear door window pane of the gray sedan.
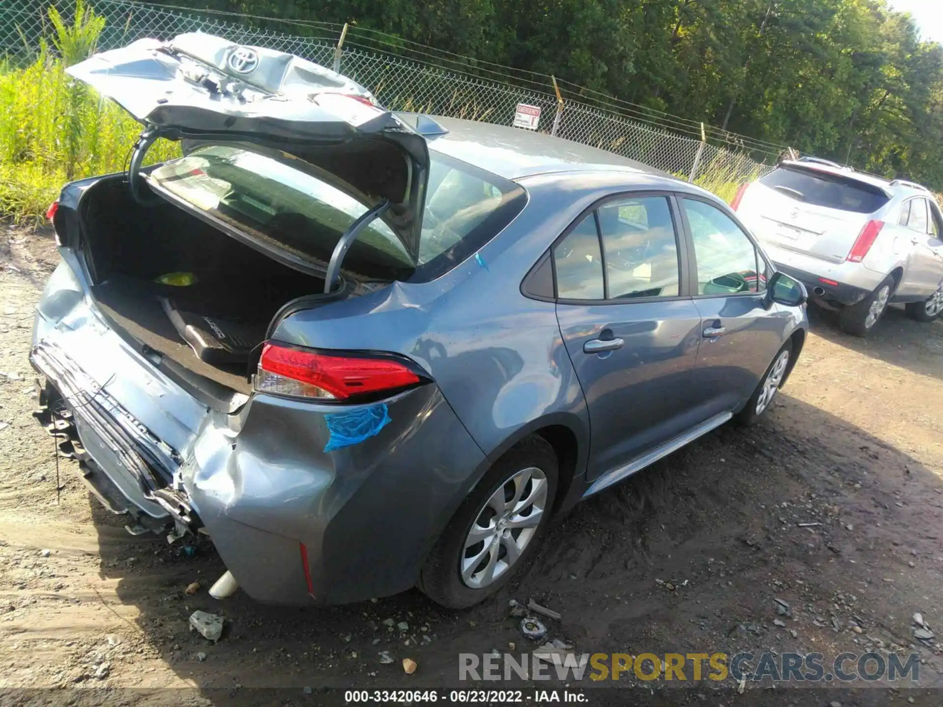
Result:
<instances>
[{"instance_id":1,"label":"larger rear door window pane of the gray sedan","mask_svg":"<svg viewBox=\"0 0 943 707\"><path fill-rule=\"evenodd\" d=\"M675 297L678 246L668 199L629 199L598 210L609 299Z\"/></svg>"}]
</instances>

